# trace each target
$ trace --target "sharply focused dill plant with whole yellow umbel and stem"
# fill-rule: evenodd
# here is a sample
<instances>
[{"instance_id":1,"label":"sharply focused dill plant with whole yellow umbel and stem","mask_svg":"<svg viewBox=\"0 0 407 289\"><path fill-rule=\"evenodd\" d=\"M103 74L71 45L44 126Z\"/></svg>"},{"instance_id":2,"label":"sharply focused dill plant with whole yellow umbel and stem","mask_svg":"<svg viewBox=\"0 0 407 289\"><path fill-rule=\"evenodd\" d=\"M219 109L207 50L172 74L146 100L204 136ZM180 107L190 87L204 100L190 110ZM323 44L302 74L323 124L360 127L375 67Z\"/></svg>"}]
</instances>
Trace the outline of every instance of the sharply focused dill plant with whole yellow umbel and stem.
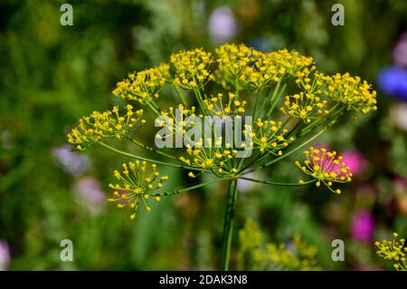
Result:
<instances>
[{"instance_id":1,"label":"sharply focused dill plant with whole yellow umbel and stem","mask_svg":"<svg viewBox=\"0 0 407 289\"><path fill-rule=\"evenodd\" d=\"M160 107L160 99L166 87L174 90L179 102L165 108ZM169 63L128 74L113 94L128 104L81 118L68 134L69 142L78 150L99 144L136 159L115 170L118 183L109 184L113 191L109 201L128 207L131 219L139 206L150 211L151 199L228 182L222 270L229 268L237 180L272 186L314 183L339 194L332 186L349 182L352 173L341 156L327 149L305 150L305 160L296 165L308 179L298 183L247 175L305 147L341 115L376 110L376 92L359 77L318 72L311 57L296 51L261 53L245 44L223 44L214 53L204 49L174 53ZM147 111L156 119L146 120ZM143 126L157 128L156 146L135 137L134 131ZM122 151L108 139L128 140L156 158ZM214 180L168 189L164 186L168 176L160 175L157 165L185 169L190 178L213 175Z\"/></svg>"}]
</instances>

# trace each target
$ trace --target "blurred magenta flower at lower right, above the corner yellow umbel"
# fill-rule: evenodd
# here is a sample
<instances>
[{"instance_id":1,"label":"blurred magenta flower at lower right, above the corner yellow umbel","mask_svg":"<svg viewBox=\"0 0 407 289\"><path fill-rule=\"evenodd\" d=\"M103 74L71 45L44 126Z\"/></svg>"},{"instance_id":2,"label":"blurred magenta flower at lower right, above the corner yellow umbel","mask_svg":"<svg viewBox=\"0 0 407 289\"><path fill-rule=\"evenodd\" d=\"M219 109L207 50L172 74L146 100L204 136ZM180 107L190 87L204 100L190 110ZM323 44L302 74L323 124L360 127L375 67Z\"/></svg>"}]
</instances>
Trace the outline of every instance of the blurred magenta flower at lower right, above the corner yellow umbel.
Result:
<instances>
[{"instance_id":1,"label":"blurred magenta flower at lower right, above the corner yellow umbel","mask_svg":"<svg viewBox=\"0 0 407 289\"><path fill-rule=\"evenodd\" d=\"M351 221L351 236L356 241L369 242L374 232L374 217L367 210L357 211Z\"/></svg>"}]
</instances>

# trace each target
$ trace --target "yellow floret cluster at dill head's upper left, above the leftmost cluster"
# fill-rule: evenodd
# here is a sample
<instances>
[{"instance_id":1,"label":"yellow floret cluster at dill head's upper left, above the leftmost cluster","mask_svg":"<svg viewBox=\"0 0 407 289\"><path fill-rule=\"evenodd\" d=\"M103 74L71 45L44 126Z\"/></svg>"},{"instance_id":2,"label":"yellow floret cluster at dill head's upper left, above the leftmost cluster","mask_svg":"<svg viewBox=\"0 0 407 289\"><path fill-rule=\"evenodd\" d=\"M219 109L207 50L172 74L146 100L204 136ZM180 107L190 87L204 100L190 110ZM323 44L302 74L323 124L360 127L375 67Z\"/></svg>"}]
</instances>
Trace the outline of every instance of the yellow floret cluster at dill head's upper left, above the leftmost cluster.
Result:
<instances>
[{"instance_id":1,"label":"yellow floret cluster at dill head's upper left, above the leftmost cluster","mask_svg":"<svg viewBox=\"0 0 407 289\"><path fill-rule=\"evenodd\" d=\"M125 100L147 104L158 98L169 79L169 69L169 65L163 63L142 72L129 73L127 79L118 82L112 93Z\"/></svg>"}]
</instances>

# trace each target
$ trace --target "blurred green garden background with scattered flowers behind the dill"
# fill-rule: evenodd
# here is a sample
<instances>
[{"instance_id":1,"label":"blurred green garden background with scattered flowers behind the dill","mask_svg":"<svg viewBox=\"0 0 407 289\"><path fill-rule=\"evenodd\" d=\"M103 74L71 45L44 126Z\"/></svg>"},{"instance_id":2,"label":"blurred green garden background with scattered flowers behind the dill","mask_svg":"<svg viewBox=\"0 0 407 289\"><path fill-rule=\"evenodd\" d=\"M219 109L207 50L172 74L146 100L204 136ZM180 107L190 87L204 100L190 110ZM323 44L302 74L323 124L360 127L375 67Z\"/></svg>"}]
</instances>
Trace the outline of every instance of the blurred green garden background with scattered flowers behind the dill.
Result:
<instances>
[{"instance_id":1,"label":"blurred green garden background with scattered flowers behind the dill","mask_svg":"<svg viewBox=\"0 0 407 289\"><path fill-rule=\"evenodd\" d=\"M336 2L343 26L331 24ZM407 236L406 1L71 0L72 26L60 24L63 3L0 3L0 270L218 267L222 184L163 198L132 222L107 202L111 172L128 159L97 146L72 152L66 133L82 115L121 103L110 92L128 72L226 42L296 49L319 71L359 75L378 92L378 111L317 140L354 170L343 194L240 182L237 228L251 217L268 241L300 235L325 270L392 270L374 241ZM137 137L153 140L154 131ZM293 159L264 178L297 181ZM166 173L177 188L191 182ZM60 259L62 239L73 242L73 262ZM333 239L345 242L344 262L331 259ZM240 246L236 233L232 268Z\"/></svg>"}]
</instances>

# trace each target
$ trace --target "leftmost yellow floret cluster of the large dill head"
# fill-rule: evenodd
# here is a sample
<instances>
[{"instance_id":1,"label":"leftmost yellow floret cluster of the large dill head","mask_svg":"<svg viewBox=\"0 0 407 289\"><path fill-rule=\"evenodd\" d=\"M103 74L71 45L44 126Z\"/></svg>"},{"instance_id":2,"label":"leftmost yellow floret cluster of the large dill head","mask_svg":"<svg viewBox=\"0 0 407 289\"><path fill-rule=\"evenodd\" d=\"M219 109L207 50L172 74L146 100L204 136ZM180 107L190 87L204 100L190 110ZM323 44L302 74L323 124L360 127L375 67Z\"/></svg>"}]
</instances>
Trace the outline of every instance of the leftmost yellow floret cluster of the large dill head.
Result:
<instances>
[{"instance_id":1,"label":"leftmost yellow floret cluster of the large dill head","mask_svg":"<svg viewBox=\"0 0 407 289\"><path fill-rule=\"evenodd\" d=\"M125 114L119 114L118 106L111 111L93 111L89 116L82 117L79 125L68 134L68 141L76 145L79 150L88 149L92 144L107 137L121 139L130 130L137 129L137 123L142 120L143 110L133 111L128 104Z\"/></svg>"}]
</instances>

